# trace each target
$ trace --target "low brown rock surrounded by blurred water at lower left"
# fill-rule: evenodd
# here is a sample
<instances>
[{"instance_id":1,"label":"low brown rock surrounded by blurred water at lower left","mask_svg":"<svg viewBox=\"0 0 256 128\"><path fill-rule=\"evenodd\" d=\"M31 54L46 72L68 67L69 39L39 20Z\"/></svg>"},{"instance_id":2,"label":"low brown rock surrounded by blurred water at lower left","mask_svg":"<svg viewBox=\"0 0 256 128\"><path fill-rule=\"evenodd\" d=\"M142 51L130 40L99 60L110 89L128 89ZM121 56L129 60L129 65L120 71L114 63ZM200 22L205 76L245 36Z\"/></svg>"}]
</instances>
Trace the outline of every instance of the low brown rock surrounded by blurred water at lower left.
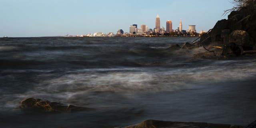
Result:
<instances>
[{"instance_id":1,"label":"low brown rock surrounded by blurred water at lower left","mask_svg":"<svg viewBox=\"0 0 256 128\"><path fill-rule=\"evenodd\" d=\"M27 98L22 100L20 102L20 108L22 110L39 112L75 112L88 109L80 106L62 104L60 102L50 102L48 100L41 100L36 98Z\"/></svg>"}]
</instances>

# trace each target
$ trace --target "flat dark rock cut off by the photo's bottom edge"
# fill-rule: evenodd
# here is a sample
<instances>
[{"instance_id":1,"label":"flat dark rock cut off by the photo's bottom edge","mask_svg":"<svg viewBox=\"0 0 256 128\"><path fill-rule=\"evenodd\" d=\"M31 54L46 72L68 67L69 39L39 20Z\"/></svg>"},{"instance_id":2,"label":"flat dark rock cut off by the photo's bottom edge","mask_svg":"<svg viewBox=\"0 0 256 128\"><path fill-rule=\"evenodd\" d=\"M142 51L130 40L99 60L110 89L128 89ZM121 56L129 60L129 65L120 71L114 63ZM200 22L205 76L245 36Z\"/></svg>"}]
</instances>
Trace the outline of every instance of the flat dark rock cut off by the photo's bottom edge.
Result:
<instances>
[{"instance_id":1,"label":"flat dark rock cut off by the photo's bottom edge","mask_svg":"<svg viewBox=\"0 0 256 128\"><path fill-rule=\"evenodd\" d=\"M159 120L146 120L139 124L119 128L243 128L239 125L212 124L197 122L171 122Z\"/></svg>"}]
</instances>

